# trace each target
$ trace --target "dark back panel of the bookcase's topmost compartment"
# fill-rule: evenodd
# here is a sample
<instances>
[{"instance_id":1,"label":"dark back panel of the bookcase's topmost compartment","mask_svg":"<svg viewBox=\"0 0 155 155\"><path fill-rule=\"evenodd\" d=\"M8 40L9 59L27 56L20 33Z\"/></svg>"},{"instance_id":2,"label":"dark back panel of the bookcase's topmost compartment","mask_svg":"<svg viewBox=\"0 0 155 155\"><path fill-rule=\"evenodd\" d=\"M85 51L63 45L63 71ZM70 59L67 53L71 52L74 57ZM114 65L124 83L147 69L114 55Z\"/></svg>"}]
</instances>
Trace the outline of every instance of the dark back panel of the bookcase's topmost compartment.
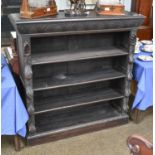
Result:
<instances>
[{"instance_id":1,"label":"dark back panel of the bookcase's topmost compartment","mask_svg":"<svg viewBox=\"0 0 155 155\"><path fill-rule=\"evenodd\" d=\"M128 42L126 42L128 37L129 32L125 31L31 38L32 55L46 52L76 52L87 49L106 49L114 46L126 47L128 45Z\"/></svg>"}]
</instances>

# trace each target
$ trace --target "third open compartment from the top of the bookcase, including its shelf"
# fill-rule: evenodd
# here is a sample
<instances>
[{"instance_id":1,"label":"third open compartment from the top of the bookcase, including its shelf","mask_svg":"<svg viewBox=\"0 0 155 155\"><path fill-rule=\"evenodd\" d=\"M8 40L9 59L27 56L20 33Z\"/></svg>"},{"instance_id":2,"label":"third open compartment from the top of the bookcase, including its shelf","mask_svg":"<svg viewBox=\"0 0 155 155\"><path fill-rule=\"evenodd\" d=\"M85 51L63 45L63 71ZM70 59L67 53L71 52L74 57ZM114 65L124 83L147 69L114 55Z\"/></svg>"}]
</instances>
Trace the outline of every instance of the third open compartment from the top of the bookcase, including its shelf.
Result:
<instances>
[{"instance_id":1,"label":"third open compartment from the top of the bookcase, including its shelf","mask_svg":"<svg viewBox=\"0 0 155 155\"><path fill-rule=\"evenodd\" d=\"M121 83L121 86L114 87L115 82ZM34 94L35 114L123 98L124 94L121 90L123 82L124 79L119 79L86 84L86 86L58 88L53 90L53 93L50 93L51 90L36 92Z\"/></svg>"}]
</instances>

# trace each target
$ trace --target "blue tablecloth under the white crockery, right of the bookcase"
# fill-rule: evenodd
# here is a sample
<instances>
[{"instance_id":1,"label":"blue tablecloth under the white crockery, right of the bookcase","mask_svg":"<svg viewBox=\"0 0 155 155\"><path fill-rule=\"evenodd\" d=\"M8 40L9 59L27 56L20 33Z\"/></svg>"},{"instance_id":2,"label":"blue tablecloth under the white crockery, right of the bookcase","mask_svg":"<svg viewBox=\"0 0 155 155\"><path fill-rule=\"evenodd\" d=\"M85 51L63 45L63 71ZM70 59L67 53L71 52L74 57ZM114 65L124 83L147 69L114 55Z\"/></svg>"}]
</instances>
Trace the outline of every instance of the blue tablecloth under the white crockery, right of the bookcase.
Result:
<instances>
[{"instance_id":1,"label":"blue tablecloth under the white crockery, right of the bookcase","mask_svg":"<svg viewBox=\"0 0 155 155\"><path fill-rule=\"evenodd\" d=\"M132 109L146 110L153 106L153 62L138 60L139 55L152 55L152 53L140 51L134 55L133 77L138 84Z\"/></svg>"}]
</instances>

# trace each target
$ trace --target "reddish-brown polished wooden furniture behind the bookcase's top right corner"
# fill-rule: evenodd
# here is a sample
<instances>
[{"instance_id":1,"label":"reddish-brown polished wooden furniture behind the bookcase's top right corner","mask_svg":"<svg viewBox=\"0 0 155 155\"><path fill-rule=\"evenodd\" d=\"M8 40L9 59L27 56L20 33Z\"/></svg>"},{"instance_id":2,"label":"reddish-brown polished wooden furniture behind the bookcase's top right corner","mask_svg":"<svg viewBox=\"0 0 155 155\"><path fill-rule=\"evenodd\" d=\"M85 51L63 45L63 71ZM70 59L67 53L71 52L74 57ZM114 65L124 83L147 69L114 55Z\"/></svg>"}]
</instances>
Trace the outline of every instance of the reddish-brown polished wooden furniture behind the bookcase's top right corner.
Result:
<instances>
[{"instance_id":1,"label":"reddish-brown polished wooden furniture behind the bookcase's top right corner","mask_svg":"<svg viewBox=\"0 0 155 155\"><path fill-rule=\"evenodd\" d=\"M137 36L140 40L153 38L153 0L132 0L131 11L144 15L146 18L139 27Z\"/></svg>"}]
</instances>

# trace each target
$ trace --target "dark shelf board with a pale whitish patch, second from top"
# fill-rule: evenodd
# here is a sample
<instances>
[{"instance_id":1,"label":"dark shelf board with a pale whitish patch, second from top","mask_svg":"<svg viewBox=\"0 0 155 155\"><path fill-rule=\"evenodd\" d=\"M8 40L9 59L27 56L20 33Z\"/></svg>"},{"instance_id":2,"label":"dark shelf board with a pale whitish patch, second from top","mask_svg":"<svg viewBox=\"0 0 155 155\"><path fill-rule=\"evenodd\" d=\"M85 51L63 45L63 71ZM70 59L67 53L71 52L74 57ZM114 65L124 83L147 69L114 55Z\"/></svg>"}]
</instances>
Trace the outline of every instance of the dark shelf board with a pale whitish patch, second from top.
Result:
<instances>
[{"instance_id":1,"label":"dark shelf board with a pale whitish patch, second from top","mask_svg":"<svg viewBox=\"0 0 155 155\"><path fill-rule=\"evenodd\" d=\"M61 77L65 77L61 79ZM58 75L51 78L35 79L33 84L34 91L43 91L54 88L76 86L82 84L89 84L100 81L107 81L125 77L125 74L114 69L107 69L96 72L89 72L76 75Z\"/></svg>"}]
</instances>

